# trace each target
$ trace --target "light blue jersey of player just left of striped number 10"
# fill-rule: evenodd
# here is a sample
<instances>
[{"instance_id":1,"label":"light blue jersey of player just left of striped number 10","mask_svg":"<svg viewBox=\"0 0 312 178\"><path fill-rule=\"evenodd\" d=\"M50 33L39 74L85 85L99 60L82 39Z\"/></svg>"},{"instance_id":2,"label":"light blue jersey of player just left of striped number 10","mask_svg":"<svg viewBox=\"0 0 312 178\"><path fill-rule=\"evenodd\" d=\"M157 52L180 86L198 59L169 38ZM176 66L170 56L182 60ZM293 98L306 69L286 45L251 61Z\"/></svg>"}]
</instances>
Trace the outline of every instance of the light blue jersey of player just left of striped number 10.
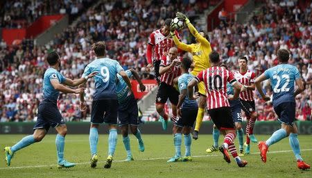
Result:
<instances>
[{"instance_id":1,"label":"light blue jersey of player just left of striped number 10","mask_svg":"<svg viewBox=\"0 0 312 178\"><path fill-rule=\"evenodd\" d=\"M182 74L178 81L178 85L179 85L179 90L180 92L182 90L187 90L187 85L189 84L189 82L194 78L194 76L192 74ZM184 102L182 104L182 108L197 108L197 102L196 100L190 100L189 96L187 95L184 99Z\"/></svg>"}]
</instances>

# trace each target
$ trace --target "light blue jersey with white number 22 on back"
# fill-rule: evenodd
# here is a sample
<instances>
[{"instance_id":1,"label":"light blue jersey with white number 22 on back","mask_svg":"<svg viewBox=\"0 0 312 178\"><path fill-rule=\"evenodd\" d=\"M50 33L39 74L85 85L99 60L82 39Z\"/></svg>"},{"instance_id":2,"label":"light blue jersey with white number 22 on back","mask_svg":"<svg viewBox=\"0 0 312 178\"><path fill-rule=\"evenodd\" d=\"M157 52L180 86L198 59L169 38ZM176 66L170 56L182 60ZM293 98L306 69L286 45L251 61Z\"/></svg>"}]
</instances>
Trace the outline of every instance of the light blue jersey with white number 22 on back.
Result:
<instances>
[{"instance_id":1,"label":"light blue jersey with white number 22 on back","mask_svg":"<svg viewBox=\"0 0 312 178\"><path fill-rule=\"evenodd\" d=\"M284 102L295 102L295 80L300 79L297 68L289 64L280 64L264 72L266 79L270 79L273 90L273 106Z\"/></svg>"}]
</instances>

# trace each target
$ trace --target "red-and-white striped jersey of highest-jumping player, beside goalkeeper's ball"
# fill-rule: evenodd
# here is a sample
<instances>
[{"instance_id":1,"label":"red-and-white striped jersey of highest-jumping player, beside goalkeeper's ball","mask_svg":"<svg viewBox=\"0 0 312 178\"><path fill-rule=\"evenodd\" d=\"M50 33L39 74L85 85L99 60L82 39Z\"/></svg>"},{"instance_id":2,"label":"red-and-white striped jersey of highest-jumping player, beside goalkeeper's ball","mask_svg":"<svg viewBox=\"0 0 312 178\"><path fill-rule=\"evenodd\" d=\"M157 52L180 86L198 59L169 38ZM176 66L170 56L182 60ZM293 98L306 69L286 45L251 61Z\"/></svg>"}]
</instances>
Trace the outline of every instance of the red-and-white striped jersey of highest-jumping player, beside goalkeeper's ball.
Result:
<instances>
[{"instance_id":1,"label":"red-and-white striped jersey of highest-jumping player, beside goalkeeper's ball","mask_svg":"<svg viewBox=\"0 0 312 178\"><path fill-rule=\"evenodd\" d=\"M180 40L179 33L175 31L175 35ZM173 42L171 35L164 36L160 29L153 31L153 33L150 33L150 38L148 38L148 43L151 44L154 47L154 52L152 59L154 60L162 60L162 56L169 51L171 47L175 46L175 43Z\"/></svg>"}]
</instances>

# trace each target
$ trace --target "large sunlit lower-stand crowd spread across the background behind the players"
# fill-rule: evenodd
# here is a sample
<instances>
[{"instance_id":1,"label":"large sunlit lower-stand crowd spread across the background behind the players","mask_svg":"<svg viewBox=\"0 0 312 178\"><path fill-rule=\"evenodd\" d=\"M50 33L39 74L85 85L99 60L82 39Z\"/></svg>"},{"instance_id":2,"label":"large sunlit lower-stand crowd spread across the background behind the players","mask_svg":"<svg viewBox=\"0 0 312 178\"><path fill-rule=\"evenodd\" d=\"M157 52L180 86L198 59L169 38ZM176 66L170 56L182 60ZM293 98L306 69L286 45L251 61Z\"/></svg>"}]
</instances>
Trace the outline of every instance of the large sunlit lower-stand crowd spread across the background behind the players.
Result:
<instances>
[{"instance_id":1,"label":"large sunlit lower-stand crowd spread across the background behind the players","mask_svg":"<svg viewBox=\"0 0 312 178\"><path fill-rule=\"evenodd\" d=\"M312 106L312 3L303 7L296 6L298 2L294 1L293 6L279 6L282 2L284 1L266 3L247 24L232 21L221 23L209 33L209 40L211 47L220 52L223 62L231 70L238 70L238 56L247 55L249 69L257 74L277 65L277 49L289 49L292 52L290 63L300 69L306 86L306 90L296 98L297 119L308 120L311 118ZM12 6L15 6L15 3L9 4L6 14L10 14L11 9L14 9ZM189 17L196 17L208 5L206 1L195 0L182 3L106 1L96 8L89 8L79 17L77 26L55 35L54 40L45 46L38 47L33 40L23 40L17 46L9 46L1 41L0 122L30 122L36 117L42 97L42 77L47 67L44 58L49 51L56 49L59 52L61 73L76 79L81 77L85 65L95 57L90 45L104 40L107 42L107 56L119 60L125 70L135 68L143 79L151 79L153 73L148 74L145 68L148 35L159 28L164 19L174 17L177 10L183 9ZM187 29L180 33L183 42L193 42ZM263 90L271 93L267 84L263 85ZM93 85L92 80L88 81L85 99L89 107L94 92ZM259 98L259 95L255 95L258 120L276 120L272 103ZM60 95L58 107L65 120L87 117L90 108L81 113L78 104L78 96Z\"/></svg>"}]
</instances>

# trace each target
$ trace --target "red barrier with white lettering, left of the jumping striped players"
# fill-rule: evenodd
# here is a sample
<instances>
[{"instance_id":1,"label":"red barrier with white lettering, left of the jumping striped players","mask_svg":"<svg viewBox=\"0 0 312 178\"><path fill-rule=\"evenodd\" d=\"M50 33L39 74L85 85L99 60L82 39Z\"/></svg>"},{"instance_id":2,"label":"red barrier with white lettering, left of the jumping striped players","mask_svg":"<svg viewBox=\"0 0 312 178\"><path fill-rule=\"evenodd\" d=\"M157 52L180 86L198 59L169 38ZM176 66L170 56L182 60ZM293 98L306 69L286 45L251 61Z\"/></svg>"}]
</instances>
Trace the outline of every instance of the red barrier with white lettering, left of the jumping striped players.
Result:
<instances>
[{"instance_id":1,"label":"red barrier with white lettering, left of the jumping striped players","mask_svg":"<svg viewBox=\"0 0 312 178\"><path fill-rule=\"evenodd\" d=\"M142 80L142 83L146 86L145 92L141 92L140 85L136 80L132 80L132 91L135 95L135 99L141 99L146 95L149 91L151 91L155 86L157 86L157 82L155 80Z\"/></svg>"}]
</instances>

